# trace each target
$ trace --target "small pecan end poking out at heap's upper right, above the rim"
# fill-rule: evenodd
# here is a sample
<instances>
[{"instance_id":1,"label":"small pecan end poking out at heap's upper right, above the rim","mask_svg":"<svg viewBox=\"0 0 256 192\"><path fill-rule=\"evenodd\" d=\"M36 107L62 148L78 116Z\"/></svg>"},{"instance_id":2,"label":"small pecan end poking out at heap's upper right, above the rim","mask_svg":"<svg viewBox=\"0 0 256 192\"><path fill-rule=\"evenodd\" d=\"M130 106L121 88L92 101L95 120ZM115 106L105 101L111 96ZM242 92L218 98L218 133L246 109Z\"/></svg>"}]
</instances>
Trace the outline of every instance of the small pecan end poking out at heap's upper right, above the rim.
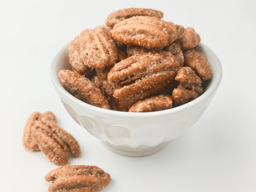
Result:
<instances>
[{"instance_id":1,"label":"small pecan end poking out at heap's upper right, above the rim","mask_svg":"<svg viewBox=\"0 0 256 192\"><path fill-rule=\"evenodd\" d=\"M197 34L193 28L188 27L185 29L185 33L175 42L180 46L181 50L185 50L198 46L200 41L201 38L199 34Z\"/></svg>"}]
</instances>

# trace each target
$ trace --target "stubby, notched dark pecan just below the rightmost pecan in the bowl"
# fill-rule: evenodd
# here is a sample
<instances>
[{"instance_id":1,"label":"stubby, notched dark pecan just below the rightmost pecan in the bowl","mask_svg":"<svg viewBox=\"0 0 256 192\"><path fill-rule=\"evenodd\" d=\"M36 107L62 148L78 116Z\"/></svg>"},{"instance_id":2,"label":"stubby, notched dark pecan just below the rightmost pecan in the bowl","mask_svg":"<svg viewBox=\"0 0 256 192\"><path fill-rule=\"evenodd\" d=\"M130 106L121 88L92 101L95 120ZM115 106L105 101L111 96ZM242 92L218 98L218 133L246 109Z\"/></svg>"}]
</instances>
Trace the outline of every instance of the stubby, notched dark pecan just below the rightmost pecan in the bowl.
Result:
<instances>
[{"instance_id":1,"label":"stubby, notched dark pecan just below the rightmost pecan in the bowl","mask_svg":"<svg viewBox=\"0 0 256 192\"><path fill-rule=\"evenodd\" d=\"M202 81L189 67L182 67L175 77L179 86L173 91L175 104L185 104L196 99L203 92Z\"/></svg>"}]
</instances>

